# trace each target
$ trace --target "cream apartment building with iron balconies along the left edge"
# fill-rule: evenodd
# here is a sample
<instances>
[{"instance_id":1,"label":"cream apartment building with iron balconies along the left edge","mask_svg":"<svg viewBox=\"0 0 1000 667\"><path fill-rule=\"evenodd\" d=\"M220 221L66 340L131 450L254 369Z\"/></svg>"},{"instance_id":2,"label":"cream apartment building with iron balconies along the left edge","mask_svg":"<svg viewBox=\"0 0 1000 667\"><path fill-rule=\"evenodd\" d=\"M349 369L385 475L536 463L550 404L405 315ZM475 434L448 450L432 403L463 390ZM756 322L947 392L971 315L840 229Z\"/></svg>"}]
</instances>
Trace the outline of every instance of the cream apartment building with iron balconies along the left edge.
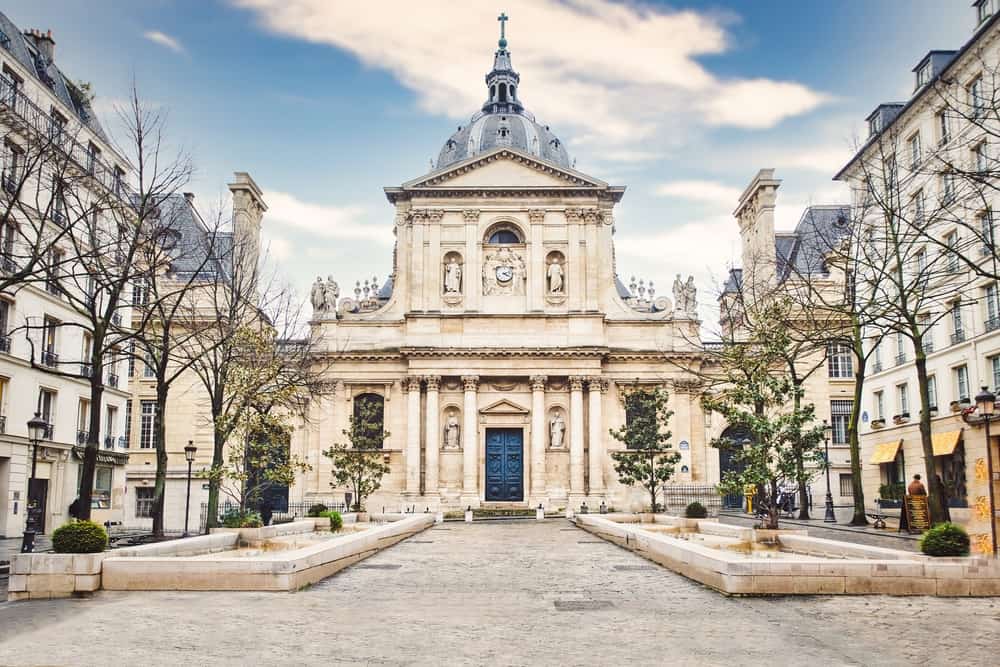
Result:
<instances>
[{"instance_id":1,"label":"cream apartment building with iron balconies along the left edge","mask_svg":"<svg viewBox=\"0 0 1000 667\"><path fill-rule=\"evenodd\" d=\"M30 230L58 236L69 224L71 208L123 195L129 165L108 141L86 88L55 64L51 33L22 32L0 14L4 276L16 275L31 255L37 237ZM72 201L60 178L73 179ZM72 244L40 245L49 255L44 279L8 280L0 291L0 536L6 537L19 535L26 523L48 533L68 519L92 411L100 411L103 432L91 517L120 521L125 494L125 351L105 359L105 391L101 404L92 405L93 369L86 361L92 335L70 303L71 290L92 286L84 281L81 287L80 271L70 279L65 270ZM75 297L81 300L80 293ZM129 317L127 310L120 317ZM27 437L27 422L36 412L47 423L37 449Z\"/></svg>"}]
</instances>

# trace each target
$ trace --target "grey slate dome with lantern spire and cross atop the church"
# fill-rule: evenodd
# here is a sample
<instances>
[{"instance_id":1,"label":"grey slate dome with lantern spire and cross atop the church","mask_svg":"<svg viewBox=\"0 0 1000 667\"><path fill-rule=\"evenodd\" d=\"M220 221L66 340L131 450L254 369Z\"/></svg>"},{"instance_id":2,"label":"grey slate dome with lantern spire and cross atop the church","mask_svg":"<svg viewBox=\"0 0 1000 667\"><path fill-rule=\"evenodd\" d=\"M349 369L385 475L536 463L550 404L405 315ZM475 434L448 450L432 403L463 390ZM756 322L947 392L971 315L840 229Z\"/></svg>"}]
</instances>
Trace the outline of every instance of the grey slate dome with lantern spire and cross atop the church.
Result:
<instances>
[{"instance_id":1,"label":"grey slate dome with lantern spire and cross atop the church","mask_svg":"<svg viewBox=\"0 0 1000 667\"><path fill-rule=\"evenodd\" d=\"M486 102L467 125L448 137L438 154L437 169L489 152L510 147L560 167L572 168L562 141L541 125L521 104L518 95L521 77L510 63L504 34L506 15L501 15L500 42L493 57L493 69L486 75Z\"/></svg>"}]
</instances>

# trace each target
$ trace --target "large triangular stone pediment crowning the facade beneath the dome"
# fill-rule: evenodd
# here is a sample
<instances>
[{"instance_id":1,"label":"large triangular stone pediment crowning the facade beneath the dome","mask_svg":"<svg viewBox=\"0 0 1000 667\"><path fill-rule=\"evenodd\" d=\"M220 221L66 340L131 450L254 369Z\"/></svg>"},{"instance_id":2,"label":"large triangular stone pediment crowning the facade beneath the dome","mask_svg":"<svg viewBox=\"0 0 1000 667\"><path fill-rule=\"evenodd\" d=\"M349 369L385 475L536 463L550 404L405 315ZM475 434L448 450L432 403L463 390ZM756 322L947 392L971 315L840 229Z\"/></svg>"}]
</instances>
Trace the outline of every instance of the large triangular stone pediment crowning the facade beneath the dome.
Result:
<instances>
[{"instance_id":1,"label":"large triangular stone pediment crowning the facade beneath the dome","mask_svg":"<svg viewBox=\"0 0 1000 667\"><path fill-rule=\"evenodd\" d=\"M426 188L595 188L608 184L516 148L495 148L403 184Z\"/></svg>"}]
</instances>

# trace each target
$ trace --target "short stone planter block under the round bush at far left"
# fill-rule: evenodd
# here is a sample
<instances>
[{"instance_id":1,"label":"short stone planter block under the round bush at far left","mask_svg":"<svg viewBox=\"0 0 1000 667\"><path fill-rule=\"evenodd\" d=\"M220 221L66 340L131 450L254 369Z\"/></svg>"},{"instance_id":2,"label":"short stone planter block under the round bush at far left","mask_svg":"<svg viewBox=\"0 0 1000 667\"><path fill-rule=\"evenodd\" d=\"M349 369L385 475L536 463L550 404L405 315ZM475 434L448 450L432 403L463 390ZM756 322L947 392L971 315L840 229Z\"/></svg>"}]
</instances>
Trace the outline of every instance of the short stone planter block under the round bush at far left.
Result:
<instances>
[{"instance_id":1,"label":"short stone planter block under the round bush at far left","mask_svg":"<svg viewBox=\"0 0 1000 667\"><path fill-rule=\"evenodd\" d=\"M8 600L89 595L101 587L98 554L16 554L11 562Z\"/></svg>"}]
</instances>

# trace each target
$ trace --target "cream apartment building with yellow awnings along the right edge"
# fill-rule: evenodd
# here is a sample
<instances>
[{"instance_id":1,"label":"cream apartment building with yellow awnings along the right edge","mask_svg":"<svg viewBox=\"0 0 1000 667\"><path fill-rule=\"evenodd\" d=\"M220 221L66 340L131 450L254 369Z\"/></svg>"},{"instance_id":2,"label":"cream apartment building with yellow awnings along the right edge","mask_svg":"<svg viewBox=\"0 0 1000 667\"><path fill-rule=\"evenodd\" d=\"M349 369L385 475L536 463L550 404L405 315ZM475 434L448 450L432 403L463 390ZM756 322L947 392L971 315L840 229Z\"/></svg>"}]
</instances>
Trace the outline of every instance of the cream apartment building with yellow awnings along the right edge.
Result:
<instances>
[{"instance_id":1,"label":"cream apartment building with yellow awnings along the right edge","mask_svg":"<svg viewBox=\"0 0 1000 667\"><path fill-rule=\"evenodd\" d=\"M922 332L921 350L898 322L867 332L865 496L894 498L914 474L927 475L915 366L921 352L929 376L930 468L942 480L951 518L967 526L974 550L988 552L995 508L987 469L989 457L1000 469L1000 458L997 438L986 442L974 397L981 387L1000 388L1000 300L995 280L972 264L995 266L997 259L995 189L977 183L995 177L991 165L1000 155L992 90L1000 71L1000 17L995 0L980 0L973 9L972 38L958 50L930 51L917 63L911 97L881 104L869 115L865 144L835 178L850 184L857 210L867 211L858 217L874 240L859 243L875 245L884 239L880 230L894 224L886 220L904 221L896 228L908 230L893 248L897 259L887 262L897 262L890 272ZM1000 497L1000 485L992 483Z\"/></svg>"}]
</instances>

